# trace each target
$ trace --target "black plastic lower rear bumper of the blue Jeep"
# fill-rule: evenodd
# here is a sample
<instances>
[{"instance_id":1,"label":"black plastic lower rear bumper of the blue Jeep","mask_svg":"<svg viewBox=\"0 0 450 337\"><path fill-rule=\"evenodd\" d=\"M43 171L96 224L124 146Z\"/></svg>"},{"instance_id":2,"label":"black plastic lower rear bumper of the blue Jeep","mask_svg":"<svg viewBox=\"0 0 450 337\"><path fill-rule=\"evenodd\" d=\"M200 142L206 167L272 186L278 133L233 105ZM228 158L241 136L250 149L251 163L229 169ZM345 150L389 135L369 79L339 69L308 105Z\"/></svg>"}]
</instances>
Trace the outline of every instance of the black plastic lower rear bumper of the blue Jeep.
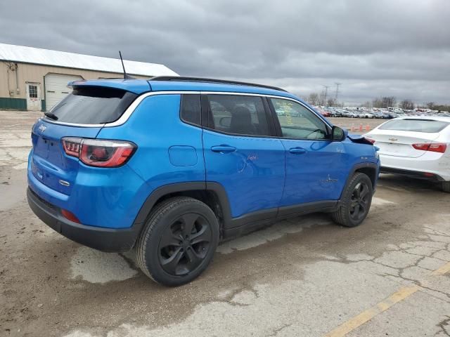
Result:
<instances>
[{"instance_id":1,"label":"black plastic lower rear bumper of the blue Jeep","mask_svg":"<svg viewBox=\"0 0 450 337\"><path fill-rule=\"evenodd\" d=\"M39 197L30 187L27 189L27 199L34 214L46 225L72 241L99 251L129 251L141 232L142 224L115 230L74 223L64 218L58 207Z\"/></svg>"}]
</instances>

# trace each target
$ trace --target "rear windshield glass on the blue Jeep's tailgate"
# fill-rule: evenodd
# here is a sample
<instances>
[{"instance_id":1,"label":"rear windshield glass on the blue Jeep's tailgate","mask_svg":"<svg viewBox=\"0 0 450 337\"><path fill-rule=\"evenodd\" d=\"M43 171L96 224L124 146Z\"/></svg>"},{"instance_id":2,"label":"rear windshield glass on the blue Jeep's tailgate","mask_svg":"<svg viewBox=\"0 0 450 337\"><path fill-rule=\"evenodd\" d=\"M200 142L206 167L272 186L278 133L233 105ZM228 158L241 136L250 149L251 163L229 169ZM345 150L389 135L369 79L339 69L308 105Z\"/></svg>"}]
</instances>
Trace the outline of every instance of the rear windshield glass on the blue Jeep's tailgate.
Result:
<instances>
[{"instance_id":1,"label":"rear windshield glass on the blue Jeep's tailgate","mask_svg":"<svg viewBox=\"0 0 450 337\"><path fill-rule=\"evenodd\" d=\"M75 88L53 107L51 114L65 123L110 123L119 119L136 97L134 93L115 88Z\"/></svg>"}]
</instances>

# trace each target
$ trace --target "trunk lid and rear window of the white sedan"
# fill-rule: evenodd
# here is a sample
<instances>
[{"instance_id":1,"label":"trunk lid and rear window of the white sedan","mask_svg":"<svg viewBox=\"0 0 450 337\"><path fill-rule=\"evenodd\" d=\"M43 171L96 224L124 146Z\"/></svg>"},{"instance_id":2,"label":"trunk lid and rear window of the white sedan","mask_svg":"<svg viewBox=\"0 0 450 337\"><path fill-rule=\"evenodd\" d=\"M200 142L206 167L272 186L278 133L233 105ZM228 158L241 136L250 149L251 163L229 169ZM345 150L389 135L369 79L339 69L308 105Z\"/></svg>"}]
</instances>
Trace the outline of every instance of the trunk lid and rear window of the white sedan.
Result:
<instances>
[{"instance_id":1,"label":"trunk lid and rear window of the white sedan","mask_svg":"<svg viewBox=\"0 0 450 337\"><path fill-rule=\"evenodd\" d=\"M367 138L375 140L380 154L418 158L426 151L417 150L413 145L432 143L448 125L448 122L432 119L393 119L368 133Z\"/></svg>"}]
</instances>

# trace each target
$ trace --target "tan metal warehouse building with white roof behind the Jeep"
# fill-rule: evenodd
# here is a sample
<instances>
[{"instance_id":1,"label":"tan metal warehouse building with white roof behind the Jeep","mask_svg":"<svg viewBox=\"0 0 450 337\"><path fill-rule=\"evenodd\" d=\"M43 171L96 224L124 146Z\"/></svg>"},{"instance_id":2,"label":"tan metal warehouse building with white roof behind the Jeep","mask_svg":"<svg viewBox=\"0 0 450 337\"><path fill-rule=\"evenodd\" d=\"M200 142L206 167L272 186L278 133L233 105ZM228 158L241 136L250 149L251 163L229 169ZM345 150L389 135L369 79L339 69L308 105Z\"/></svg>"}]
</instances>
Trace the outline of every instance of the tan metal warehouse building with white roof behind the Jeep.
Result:
<instances>
[{"instance_id":1,"label":"tan metal warehouse building with white roof behind the Jeep","mask_svg":"<svg viewBox=\"0 0 450 337\"><path fill-rule=\"evenodd\" d=\"M138 78L177 76L165 65L124 60ZM0 44L0 110L50 110L80 79L123 77L119 58Z\"/></svg>"}]
</instances>

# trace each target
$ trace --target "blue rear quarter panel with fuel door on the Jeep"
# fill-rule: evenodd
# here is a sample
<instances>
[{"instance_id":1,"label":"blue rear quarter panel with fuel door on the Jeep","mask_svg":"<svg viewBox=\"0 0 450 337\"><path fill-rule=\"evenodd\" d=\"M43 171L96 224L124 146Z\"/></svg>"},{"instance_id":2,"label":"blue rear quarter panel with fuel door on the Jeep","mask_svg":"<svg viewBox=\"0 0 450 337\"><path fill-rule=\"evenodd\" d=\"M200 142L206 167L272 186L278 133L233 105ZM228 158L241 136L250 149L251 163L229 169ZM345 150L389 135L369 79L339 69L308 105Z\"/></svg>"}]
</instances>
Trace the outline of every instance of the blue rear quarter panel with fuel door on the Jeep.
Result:
<instances>
[{"instance_id":1,"label":"blue rear quarter panel with fuel door on the Jeep","mask_svg":"<svg viewBox=\"0 0 450 337\"><path fill-rule=\"evenodd\" d=\"M98 134L138 146L127 165L146 182L145 197L162 185L205 181L203 131L181 121L180 100L179 94L150 95L127 123L105 127Z\"/></svg>"}]
</instances>

